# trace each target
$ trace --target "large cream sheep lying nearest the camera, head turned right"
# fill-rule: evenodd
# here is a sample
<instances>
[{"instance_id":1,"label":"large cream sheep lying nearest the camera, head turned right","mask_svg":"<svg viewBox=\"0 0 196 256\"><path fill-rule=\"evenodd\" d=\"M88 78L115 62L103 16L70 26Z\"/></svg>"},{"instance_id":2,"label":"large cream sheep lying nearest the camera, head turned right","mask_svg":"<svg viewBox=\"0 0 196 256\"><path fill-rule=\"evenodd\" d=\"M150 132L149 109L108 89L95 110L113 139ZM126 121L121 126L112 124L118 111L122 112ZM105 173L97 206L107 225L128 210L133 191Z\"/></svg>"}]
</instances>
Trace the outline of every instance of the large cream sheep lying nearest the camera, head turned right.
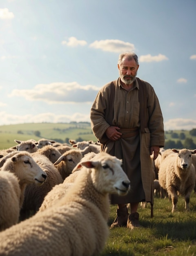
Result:
<instances>
[{"instance_id":1,"label":"large cream sheep lying nearest the camera, head turned right","mask_svg":"<svg viewBox=\"0 0 196 256\"><path fill-rule=\"evenodd\" d=\"M126 195L122 161L99 153L80 162L73 186L53 207L0 233L0 256L98 255L108 238L109 194Z\"/></svg>"}]
</instances>

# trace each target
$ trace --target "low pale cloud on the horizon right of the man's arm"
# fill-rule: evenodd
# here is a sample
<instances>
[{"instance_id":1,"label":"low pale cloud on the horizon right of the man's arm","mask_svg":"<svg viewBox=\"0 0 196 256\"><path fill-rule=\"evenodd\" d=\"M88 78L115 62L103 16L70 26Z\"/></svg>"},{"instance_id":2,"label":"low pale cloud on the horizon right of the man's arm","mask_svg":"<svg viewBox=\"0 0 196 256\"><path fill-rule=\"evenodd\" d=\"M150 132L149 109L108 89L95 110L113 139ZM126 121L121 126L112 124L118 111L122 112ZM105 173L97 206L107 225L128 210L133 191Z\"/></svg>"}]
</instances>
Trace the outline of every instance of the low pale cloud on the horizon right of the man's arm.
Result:
<instances>
[{"instance_id":1,"label":"low pale cloud on the horizon right of the man's arm","mask_svg":"<svg viewBox=\"0 0 196 256\"><path fill-rule=\"evenodd\" d=\"M164 122L165 130L192 130L196 128L196 120L176 118Z\"/></svg>"}]
</instances>

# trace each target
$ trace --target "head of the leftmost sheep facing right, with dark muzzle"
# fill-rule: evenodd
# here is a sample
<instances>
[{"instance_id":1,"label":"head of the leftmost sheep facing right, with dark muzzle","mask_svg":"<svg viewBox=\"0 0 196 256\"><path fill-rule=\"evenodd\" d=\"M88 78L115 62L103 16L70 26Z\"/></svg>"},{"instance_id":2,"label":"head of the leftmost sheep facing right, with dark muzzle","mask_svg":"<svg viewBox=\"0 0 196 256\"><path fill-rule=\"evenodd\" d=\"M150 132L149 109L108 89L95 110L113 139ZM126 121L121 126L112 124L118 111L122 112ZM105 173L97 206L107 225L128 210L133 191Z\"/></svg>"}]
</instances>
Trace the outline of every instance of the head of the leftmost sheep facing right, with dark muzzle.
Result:
<instances>
[{"instance_id":1,"label":"head of the leftmost sheep facing right, with dark muzzle","mask_svg":"<svg viewBox=\"0 0 196 256\"><path fill-rule=\"evenodd\" d=\"M20 182L42 185L47 174L27 152L21 152L6 160L3 170L16 173Z\"/></svg>"}]
</instances>

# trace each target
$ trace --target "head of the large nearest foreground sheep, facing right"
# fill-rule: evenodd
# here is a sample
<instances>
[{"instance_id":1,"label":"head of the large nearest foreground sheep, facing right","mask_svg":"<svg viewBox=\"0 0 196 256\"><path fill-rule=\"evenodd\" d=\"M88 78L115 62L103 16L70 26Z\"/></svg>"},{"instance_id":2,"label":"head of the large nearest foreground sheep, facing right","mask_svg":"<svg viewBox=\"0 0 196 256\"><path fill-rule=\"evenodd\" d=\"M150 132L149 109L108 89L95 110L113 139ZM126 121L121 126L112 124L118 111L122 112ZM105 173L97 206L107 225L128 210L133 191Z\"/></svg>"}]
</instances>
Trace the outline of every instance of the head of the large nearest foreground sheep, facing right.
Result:
<instances>
[{"instance_id":1,"label":"head of the large nearest foreground sheep, facing right","mask_svg":"<svg viewBox=\"0 0 196 256\"><path fill-rule=\"evenodd\" d=\"M80 162L79 168L80 164L89 168L93 184L100 193L118 195L126 195L128 193L130 181L122 170L122 161L120 159L107 153L99 153L89 161Z\"/></svg>"}]
</instances>

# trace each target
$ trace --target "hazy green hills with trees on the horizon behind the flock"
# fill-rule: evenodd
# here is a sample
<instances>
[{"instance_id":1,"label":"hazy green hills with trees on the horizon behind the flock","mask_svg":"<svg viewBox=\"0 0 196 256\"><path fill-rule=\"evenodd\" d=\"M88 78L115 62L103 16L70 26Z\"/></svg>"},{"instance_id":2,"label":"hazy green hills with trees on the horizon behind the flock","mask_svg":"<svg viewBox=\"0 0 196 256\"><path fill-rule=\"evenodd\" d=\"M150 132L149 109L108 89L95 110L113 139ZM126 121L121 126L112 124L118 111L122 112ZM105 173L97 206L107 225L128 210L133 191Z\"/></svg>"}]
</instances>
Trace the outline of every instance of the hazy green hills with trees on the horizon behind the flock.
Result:
<instances>
[{"instance_id":1,"label":"hazy green hills with trees on the horizon behind the flock","mask_svg":"<svg viewBox=\"0 0 196 256\"><path fill-rule=\"evenodd\" d=\"M71 122L71 123L40 123L40 124L13 124L0 126L0 149L10 148L17 145L14 141L40 138L53 139L58 142L68 142L69 139L76 141L93 140L97 141L93 135L90 123L88 122ZM165 131L165 142L169 148L175 147L168 142L174 142L177 145L186 144L192 140L196 145L196 136L190 135L188 130L169 130ZM189 145L189 144L188 144ZM186 147L186 146L185 146ZM177 147L178 148L178 147ZM187 146L189 148L189 146ZM195 147L196 148L196 147ZM194 148L191 148L194 149Z\"/></svg>"}]
</instances>

